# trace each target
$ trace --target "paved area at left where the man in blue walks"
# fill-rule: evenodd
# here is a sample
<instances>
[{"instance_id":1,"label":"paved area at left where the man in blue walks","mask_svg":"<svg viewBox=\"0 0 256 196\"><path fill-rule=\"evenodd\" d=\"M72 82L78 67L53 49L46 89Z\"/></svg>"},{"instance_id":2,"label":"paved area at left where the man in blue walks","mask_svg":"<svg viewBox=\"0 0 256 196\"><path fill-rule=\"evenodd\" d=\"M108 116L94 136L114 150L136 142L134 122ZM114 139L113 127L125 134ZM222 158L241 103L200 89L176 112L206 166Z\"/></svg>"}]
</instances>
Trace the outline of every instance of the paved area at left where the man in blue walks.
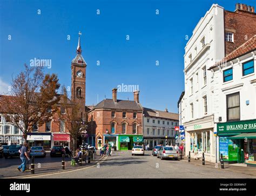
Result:
<instances>
[{"instance_id":1,"label":"paved area at left where the man in blue walks","mask_svg":"<svg viewBox=\"0 0 256 196\"><path fill-rule=\"evenodd\" d=\"M71 166L71 158L65 158L65 170L62 169L62 157L50 157L50 153L46 152L46 157L35 157L35 174L31 174L30 170L26 170L24 173L19 172L17 167L21 165L21 159L14 158L2 158L0 159L0 178L20 178L24 176L37 175L42 173L58 173L62 171L76 170L77 168L87 167L95 165L97 161L103 157L99 156L99 153L95 155L95 161L88 164L88 157L82 162L82 166ZM29 168L31 167L31 159L29 161Z\"/></svg>"}]
</instances>

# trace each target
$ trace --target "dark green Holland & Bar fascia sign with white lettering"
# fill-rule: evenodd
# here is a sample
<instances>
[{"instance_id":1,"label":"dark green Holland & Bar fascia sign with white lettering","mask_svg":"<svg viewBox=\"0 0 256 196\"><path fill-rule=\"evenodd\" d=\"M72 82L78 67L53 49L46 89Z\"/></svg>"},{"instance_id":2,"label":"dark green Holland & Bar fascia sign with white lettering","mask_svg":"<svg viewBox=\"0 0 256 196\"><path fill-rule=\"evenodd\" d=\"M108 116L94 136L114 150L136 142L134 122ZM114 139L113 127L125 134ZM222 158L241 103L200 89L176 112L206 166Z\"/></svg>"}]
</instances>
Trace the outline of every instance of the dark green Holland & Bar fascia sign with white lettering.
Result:
<instances>
[{"instance_id":1,"label":"dark green Holland & Bar fascia sign with white lettering","mask_svg":"<svg viewBox=\"0 0 256 196\"><path fill-rule=\"evenodd\" d=\"M256 132L256 120L218 123L217 132L218 133Z\"/></svg>"}]
</instances>

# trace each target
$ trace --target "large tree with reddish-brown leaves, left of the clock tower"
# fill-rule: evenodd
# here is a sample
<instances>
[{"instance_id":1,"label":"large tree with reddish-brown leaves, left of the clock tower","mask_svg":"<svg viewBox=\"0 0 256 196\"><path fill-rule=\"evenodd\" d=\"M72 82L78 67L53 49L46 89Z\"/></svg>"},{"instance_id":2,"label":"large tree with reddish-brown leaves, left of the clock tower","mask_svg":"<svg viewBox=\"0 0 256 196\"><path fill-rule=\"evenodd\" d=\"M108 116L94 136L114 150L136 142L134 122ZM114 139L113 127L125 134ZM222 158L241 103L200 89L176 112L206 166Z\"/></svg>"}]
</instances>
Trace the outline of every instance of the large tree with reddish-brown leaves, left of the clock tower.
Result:
<instances>
[{"instance_id":1,"label":"large tree with reddish-brown leaves, left of the clock tower","mask_svg":"<svg viewBox=\"0 0 256 196\"><path fill-rule=\"evenodd\" d=\"M23 132L25 141L35 124L42 126L58 110L59 87L57 75L44 74L42 66L25 64L25 70L12 78L9 93L14 102L1 103L3 115Z\"/></svg>"}]
</instances>

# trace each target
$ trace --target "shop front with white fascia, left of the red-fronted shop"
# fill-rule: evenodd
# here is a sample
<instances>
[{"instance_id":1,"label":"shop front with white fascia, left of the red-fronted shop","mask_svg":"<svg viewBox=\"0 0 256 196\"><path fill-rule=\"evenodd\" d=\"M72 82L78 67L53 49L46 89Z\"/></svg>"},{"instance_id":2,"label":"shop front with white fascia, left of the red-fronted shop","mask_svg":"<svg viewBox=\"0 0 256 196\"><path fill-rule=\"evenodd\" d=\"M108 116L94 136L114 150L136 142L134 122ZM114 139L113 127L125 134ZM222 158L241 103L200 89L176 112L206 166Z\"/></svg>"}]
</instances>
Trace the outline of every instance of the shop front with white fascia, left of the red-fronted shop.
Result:
<instances>
[{"instance_id":1,"label":"shop front with white fascia, left of the red-fronted shop","mask_svg":"<svg viewBox=\"0 0 256 196\"><path fill-rule=\"evenodd\" d=\"M28 133L26 138L29 146L43 146L44 150L51 148L51 133Z\"/></svg>"}]
</instances>

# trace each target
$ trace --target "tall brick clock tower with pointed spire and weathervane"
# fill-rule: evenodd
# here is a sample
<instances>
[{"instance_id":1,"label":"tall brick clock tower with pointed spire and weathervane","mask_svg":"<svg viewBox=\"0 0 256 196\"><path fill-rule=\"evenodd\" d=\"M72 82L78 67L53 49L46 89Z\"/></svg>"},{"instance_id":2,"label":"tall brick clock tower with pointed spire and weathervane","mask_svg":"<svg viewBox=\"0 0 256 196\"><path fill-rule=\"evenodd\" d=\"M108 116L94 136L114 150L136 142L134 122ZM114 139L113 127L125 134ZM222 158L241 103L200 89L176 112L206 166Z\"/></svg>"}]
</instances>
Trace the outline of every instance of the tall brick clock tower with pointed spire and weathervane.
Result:
<instances>
[{"instance_id":1,"label":"tall brick clock tower with pointed spire and weathervane","mask_svg":"<svg viewBox=\"0 0 256 196\"><path fill-rule=\"evenodd\" d=\"M82 49L80 45L80 35L78 33L78 45L77 45L77 55L71 62L72 78L71 78L71 100L78 104L83 105L81 116L84 117L85 109L85 76L86 76L86 62L82 56Z\"/></svg>"}]
</instances>

